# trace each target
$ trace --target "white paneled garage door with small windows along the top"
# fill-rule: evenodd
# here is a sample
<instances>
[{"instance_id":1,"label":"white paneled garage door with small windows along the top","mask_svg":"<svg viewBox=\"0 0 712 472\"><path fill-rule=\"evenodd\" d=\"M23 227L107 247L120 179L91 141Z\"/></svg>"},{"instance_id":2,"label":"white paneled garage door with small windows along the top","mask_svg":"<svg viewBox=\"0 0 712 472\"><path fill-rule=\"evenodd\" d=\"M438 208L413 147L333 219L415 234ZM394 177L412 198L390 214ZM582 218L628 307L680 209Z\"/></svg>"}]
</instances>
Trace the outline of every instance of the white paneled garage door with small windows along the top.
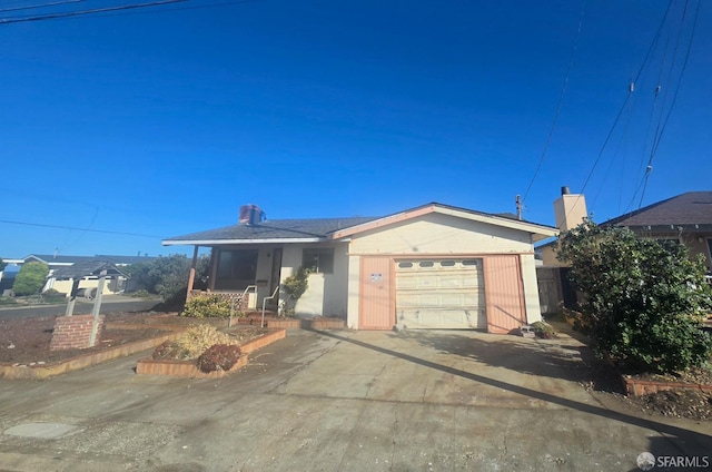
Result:
<instances>
[{"instance_id":1,"label":"white paneled garage door with small windows along the top","mask_svg":"<svg viewBox=\"0 0 712 472\"><path fill-rule=\"evenodd\" d=\"M482 259L396 260L396 317L406 328L486 328Z\"/></svg>"}]
</instances>

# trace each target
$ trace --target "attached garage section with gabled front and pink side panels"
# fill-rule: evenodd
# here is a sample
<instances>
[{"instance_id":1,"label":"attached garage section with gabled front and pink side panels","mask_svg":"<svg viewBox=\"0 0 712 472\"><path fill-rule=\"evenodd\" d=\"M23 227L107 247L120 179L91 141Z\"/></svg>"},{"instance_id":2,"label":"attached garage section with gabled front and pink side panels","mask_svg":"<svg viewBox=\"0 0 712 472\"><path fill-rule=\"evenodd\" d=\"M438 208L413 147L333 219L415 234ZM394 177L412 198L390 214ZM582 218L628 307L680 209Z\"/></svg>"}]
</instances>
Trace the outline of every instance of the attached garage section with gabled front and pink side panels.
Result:
<instances>
[{"instance_id":1,"label":"attached garage section with gabled front and pink side panels","mask_svg":"<svg viewBox=\"0 0 712 472\"><path fill-rule=\"evenodd\" d=\"M556 229L432 204L335 232L348 240L348 326L486 330L541 319L534 242Z\"/></svg>"}]
</instances>

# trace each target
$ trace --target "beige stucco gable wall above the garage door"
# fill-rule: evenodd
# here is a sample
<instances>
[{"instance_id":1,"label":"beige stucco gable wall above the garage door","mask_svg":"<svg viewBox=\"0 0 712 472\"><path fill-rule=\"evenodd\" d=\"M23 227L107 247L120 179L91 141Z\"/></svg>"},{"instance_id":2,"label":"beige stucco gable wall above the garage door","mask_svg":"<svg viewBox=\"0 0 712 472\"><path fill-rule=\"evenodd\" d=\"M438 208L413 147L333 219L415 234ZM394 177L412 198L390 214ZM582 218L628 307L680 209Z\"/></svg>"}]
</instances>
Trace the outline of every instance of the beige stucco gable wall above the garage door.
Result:
<instances>
[{"instance_id":1,"label":"beige stucco gable wall above the garage door","mask_svg":"<svg viewBox=\"0 0 712 472\"><path fill-rule=\"evenodd\" d=\"M503 254L532 252L527 233L449 215L428 214L354 236L352 254Z\"/></svg>"}]
</instances>

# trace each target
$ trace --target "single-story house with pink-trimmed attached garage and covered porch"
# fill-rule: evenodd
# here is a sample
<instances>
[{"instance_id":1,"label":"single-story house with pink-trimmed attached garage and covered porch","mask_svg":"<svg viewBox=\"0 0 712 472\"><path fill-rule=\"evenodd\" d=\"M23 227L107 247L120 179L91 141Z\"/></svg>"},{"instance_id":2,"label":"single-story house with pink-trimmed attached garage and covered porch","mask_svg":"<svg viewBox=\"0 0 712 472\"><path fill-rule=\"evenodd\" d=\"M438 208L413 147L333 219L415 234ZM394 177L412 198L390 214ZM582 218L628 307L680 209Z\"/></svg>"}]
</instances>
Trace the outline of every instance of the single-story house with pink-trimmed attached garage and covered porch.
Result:
<instances>
[{"instance_id":1,"label":"single-story house with pink-trimmed attached garage and covered porch","mask_svg":"<svg viewBox=\"0 0 712 472\"><path fill-rule=\"evenodd\" d=\"M195 246L194 267L198 248L211 248L208 289L255 286L258 307L308 267L296 315L339 316L350 328L507 333L541 319L534 243L556 235L553 227L437 203L385 217L263 217L245 206L237 225L164 245Z\"/></svg>"}]
</instances>

